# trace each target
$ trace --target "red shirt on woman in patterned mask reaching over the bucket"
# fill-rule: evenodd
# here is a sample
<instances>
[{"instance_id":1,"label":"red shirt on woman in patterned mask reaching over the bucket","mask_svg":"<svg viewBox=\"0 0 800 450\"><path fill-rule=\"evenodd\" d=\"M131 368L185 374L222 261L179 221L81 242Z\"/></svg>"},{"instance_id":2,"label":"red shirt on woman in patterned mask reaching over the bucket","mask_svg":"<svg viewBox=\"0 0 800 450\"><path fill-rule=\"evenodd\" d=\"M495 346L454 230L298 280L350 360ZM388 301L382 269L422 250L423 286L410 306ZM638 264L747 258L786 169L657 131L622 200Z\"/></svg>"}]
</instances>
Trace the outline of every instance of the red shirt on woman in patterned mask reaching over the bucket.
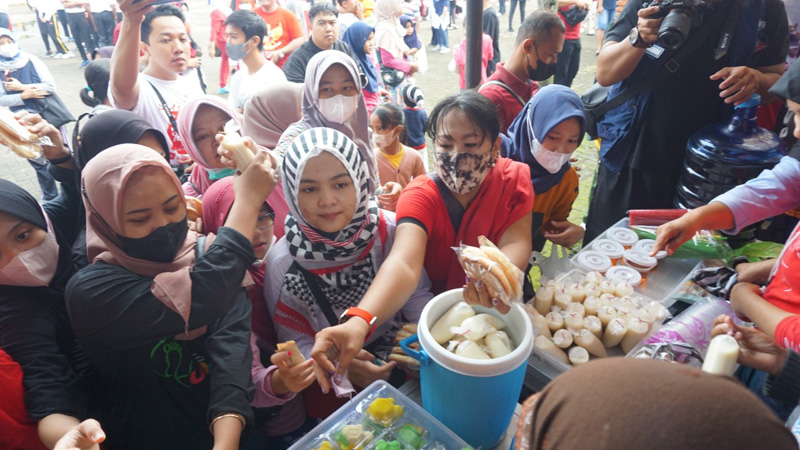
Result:
<instances>
[{"instance_id":1,"label":"red shirt on woman in patterned mask reaching over the bucket","mask_svg":"<svg viewBox=\"0 0 800 450\"><path fill-rule=\"evenodd\" d=\"M414 178L397 202L397 221L411 219L428 233L425 271L439 294L464 285L464 270L452 247L478 245L478 236L499 242L512 224L533 208L533 186L527 165L499 158L467 206L461 225L454 230L436 183L427 176Z\"/></svg>"}]
</instances>

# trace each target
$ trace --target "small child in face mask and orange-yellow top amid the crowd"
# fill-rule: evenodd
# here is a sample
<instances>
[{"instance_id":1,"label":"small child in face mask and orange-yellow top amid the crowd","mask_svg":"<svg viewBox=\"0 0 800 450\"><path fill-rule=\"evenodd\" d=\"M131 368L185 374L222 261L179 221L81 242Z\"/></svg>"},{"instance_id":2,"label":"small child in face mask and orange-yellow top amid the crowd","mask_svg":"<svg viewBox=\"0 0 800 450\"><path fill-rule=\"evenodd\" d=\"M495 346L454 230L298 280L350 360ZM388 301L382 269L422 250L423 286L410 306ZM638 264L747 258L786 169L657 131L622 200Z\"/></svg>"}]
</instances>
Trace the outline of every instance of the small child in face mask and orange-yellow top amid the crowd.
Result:
<instances>
[{"instance_id":1,"label":"small child in face mask and orange-yellow top amid the crowd","mask_svg":"<svg viewBox=\"0 0 800 450\"><path fill-rule=\"evenodd\" d=\"M372 128L375 159L382 183L398 183L403 188L412 178L425 174L419 153L403 145L405 116L399 106L394 103L381 104L369 116L369 126ZM378 196L378 203L389 211L394 211L397 206L396 198L384 199L382 195Z\"/></svg>"}]
</instances>

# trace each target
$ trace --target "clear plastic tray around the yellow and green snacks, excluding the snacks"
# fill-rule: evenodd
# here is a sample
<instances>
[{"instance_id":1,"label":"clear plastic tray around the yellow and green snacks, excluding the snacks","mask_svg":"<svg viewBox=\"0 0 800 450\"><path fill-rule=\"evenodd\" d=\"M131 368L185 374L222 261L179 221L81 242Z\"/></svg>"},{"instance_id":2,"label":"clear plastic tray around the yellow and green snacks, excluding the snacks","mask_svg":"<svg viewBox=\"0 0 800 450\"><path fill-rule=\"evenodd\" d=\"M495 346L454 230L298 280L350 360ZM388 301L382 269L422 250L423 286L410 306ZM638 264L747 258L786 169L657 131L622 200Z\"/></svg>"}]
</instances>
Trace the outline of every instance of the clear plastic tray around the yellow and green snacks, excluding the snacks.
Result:
<instances>
[{"instance_id":1,"label":"clear plastic tray around the yellow and green snacks, excluding the snacks","mask_svg":"<svg viewBox=\"0 0 800 450\"><path fill-rule=\"evenodd\" d=\"M391 423L386 424L386 426L369 421L367 408L377 398L394 399L395 405L400 405L403 408L403 414L395 418ZM371 440L353 447L339 445L336 440L336 433L345 425L362 426L363 429L369 430L373 437ZM398 439L402 434L401 428L404 426L411 426L416 430L421 429L421 439L424 443L422 441L408 443ZM401 442L403 450L471 449L466 442L410 398L385 381L376 381L353 397L350 403L339 408L311 432L303 436L289 450L317 449L325 442L329 443L331 450L371 450L376 448L380 440L393 441L396 439Z\"/></svg>"}]
</instances>

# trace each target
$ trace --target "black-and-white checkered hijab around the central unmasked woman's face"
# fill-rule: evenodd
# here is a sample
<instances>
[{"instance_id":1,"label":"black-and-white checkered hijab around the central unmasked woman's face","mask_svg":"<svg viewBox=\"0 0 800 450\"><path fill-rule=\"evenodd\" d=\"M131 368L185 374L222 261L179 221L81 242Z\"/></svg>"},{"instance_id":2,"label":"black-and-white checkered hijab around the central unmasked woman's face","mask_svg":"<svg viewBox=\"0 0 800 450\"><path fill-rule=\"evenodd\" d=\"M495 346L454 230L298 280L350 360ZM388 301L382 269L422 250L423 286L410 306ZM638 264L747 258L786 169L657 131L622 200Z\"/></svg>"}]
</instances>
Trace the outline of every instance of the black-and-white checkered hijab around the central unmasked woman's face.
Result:
<instances>
[{"instance_id":1,"label":"black-and-white checkered hijab around the central unmasked woman's face","mask_svg":"<svg viewBox=\"0 0 800 450\"><path fill-rule=\"evenodd\" d=\"M356 210L350 222L335 236L322 233L306 222L297 205L299 182L306 163L322 152L334 155L356 186ZM370 249L382 220L370 192L367 163L356 145L343 133L312 128L300 134L283 160L283 189L290 214L286 216L286 241L294 263L284 276L283 297L305 303L316 311L307 276L314 274L335 309L355 306L372 284L376 268ZM335 268L335 270L331 270Z\"/></svg>"}]
</instances>

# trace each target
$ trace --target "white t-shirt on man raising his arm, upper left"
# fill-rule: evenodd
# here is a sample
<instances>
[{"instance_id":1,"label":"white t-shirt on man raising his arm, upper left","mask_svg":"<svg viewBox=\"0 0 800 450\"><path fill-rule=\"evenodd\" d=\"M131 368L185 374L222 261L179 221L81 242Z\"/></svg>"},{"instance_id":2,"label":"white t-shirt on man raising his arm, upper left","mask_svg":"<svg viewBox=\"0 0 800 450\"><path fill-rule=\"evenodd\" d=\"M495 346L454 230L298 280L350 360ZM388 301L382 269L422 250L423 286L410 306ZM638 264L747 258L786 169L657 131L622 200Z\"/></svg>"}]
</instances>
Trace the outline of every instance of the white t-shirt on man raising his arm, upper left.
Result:
<instances>
[{"instance_id":1,"label":"white t-shirt on man raising his arm, upper left","mask_svg":"<svg viewBox=\"0 0 800 450\"><path fill-rule=\"evenodd\" d=\"M152 85L150 84L152 83ZM197 74L192 73L190 76L178 75L175 80L161 80L153 78L143 73L139 74L139 101L136 106L131 109L131 112L138 114L142 119L150 122L153 128L160 131L167 142L172 146L169 149L169 160L172 165L178 163L188 162L189 154L183 146L183 143L178 136L178 130L173 130L164 108L161 106L161 100L153 90L153 86L158 89L161 96L175 118L177 123L178 112L181 107L189 101L190 98L195 98L203 95L203 89L200 87L200 79ZM108 98L111 100L111 105L117 108L114 96L111 94L111 86L108 87Z\"/></svg>"}]
</instances>

